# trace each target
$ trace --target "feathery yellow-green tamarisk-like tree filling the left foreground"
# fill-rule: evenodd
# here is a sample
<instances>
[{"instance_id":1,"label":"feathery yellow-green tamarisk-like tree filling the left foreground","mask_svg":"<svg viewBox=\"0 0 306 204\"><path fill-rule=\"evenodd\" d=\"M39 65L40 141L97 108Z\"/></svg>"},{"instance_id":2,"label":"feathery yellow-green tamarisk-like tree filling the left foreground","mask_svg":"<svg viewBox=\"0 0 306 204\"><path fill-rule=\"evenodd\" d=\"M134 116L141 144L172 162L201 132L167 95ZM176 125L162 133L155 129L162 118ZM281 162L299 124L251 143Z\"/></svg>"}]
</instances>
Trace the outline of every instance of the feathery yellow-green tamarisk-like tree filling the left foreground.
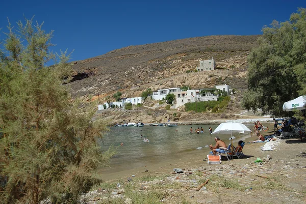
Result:
<instances>
[{"instance_id":1,"label":"feathery yellow-green tamarisk-like tree filling the left foreground","mask_svg":"<svg viewBox=\"0 0 306 204\"><path fill-rule=\"evenodd\" d=\"M113 154L97 143L106 125L92 121L96 103L71 102L69 57L49 52L52 32L32 19L18 27L9 24L0 51L0 200L76 203ZM59 62L46 67L50 59Z\"/></svg>"}]
</instances>

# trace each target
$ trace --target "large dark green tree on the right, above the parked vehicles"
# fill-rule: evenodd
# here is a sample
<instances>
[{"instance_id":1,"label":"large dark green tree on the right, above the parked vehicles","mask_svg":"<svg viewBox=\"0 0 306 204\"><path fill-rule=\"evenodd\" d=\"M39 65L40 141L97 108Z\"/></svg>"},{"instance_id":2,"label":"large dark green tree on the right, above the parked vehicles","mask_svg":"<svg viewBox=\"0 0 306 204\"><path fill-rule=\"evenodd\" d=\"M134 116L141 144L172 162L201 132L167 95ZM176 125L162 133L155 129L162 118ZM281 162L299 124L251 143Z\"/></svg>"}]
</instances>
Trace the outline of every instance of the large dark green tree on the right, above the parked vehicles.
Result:
<instances>
[{"instance_id":1,"label":"large dark green tree on the right, above the parked vehicles","mask_svg":"<svg viewBox=\"0 0 306 204\"><path fill-rule=\"evenodd\" d=\"M243 106L273 115L292 114L283 103L306 94L306 10L299 8L289 21L273 20L263 27L259 46L248 56L248 91Z\"/></svg>"}]
</instances>

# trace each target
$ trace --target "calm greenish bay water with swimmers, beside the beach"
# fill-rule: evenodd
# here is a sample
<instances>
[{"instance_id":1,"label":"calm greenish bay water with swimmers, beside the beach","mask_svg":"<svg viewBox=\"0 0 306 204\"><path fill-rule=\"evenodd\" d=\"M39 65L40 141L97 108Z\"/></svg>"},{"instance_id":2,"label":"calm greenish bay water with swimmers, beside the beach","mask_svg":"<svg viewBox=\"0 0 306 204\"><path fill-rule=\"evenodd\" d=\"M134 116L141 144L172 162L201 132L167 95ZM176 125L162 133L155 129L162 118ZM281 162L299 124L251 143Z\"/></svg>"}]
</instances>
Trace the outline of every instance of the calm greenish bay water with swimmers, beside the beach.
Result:
<instances>
[{"instance_id":1,"label":"calm greenish bay water with swimmers, beside the beach","mask_svg":"<svg viewBox=\"0 0 306 204\"><path fill-rule=\"evenodd\" d=\"M117 154L111 159L112 168L102 168L100 172L114 173L116 171L141 167L148 163L170 161L192 151L208 152L209 148L206 145L215 144L215 135L209 133L210 126L213 131L218 127L218 125L111 127L110 131L101 141L101 147L107 150L110 145L113 145L117 148ZM203 127L204 132L191 134L190 127L192 127L193 131L197 127ZM248 127L251 128L252 126L249 125ZM143 142L143 138L140 137L141 134L143 138L147 137L150 142ZM231 142L230 134L218 136L226 144ZM238 140L243 135L234 136ZM122 147L120 147L121 142L123 143Z\"/></svg>"}]
</instances>

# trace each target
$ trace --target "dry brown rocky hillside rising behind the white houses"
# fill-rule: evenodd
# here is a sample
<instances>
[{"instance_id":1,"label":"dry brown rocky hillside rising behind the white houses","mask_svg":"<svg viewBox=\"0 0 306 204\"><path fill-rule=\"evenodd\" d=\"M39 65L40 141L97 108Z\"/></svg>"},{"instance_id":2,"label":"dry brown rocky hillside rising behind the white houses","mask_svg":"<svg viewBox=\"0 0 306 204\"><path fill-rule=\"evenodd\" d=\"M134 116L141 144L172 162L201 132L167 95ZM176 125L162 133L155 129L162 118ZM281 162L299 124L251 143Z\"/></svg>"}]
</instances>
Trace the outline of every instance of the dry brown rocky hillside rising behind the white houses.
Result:
<instances>
[{"instance_id":1,"label":"dry brown rocky hillside rising behind the white houses","mask_svg":"<svg viewBox=\"0 0 306 204\"><path fill-rule=\"evenodd\" d=\"M74 76L67 84L74 97L100 98L120 91L124 97L189 85L210 88L227 83L246 89L246 56L259 36L207 36L128 46L73 63ZM199 61L214 57L217 69L193 72ZM239 96L239 94L238 94Z\"/></svg>"}]
</instances>

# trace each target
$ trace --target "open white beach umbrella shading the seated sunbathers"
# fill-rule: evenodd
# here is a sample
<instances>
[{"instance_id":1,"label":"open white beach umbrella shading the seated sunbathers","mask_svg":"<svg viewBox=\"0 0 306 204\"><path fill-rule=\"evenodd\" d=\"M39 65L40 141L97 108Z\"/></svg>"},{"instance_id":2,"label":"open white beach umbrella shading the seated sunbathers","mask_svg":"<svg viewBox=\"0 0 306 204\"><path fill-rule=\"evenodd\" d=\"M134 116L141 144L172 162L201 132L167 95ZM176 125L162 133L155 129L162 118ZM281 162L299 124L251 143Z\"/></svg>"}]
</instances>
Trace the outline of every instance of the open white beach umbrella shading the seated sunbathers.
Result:
<instances>
[{"instance_id":1,"label":"open white beach umbrella shading the seated sunbathers","mask_svg":"<svg viewBox=\"0 0 306 204\"><path fill-rule=\"evenodd\" d=\"M221 123L212 134L231 134L233 137L233 133L249 133L252 132L248 127L243 125L242 123ZM233 139L231 149L233 150Z\"/></svg>"}]
</instances>

